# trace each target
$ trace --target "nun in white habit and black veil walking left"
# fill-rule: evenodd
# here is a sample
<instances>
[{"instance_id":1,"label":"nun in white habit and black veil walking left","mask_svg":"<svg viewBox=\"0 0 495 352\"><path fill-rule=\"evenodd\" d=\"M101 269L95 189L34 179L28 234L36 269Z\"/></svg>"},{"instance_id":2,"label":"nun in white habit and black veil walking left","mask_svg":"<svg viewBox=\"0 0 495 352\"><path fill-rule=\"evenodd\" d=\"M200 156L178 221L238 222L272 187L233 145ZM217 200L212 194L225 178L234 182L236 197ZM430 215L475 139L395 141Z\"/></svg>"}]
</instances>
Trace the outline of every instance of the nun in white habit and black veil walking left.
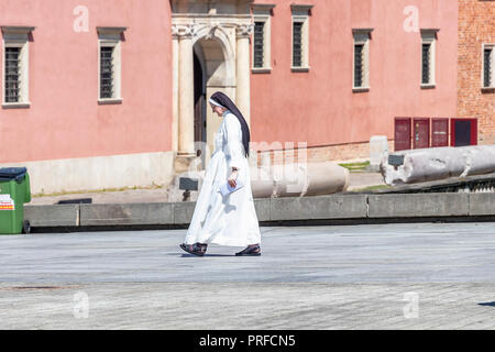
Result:
<instances>
[{"instance_id":1,"label":"nun in white habit and black veil walking left","mask_svg":"<svg viewBox=\"0 0 495 352\"><path fill-rule=\"evenodd\" d=\"M221 91L213 94L209 103L222 122L215 134L215 152L180 248L204 256L208 244L215 243L245 248L235 255L261 255L261 233L248 163L248 123Z\"/></svg>"}]
</instances>

